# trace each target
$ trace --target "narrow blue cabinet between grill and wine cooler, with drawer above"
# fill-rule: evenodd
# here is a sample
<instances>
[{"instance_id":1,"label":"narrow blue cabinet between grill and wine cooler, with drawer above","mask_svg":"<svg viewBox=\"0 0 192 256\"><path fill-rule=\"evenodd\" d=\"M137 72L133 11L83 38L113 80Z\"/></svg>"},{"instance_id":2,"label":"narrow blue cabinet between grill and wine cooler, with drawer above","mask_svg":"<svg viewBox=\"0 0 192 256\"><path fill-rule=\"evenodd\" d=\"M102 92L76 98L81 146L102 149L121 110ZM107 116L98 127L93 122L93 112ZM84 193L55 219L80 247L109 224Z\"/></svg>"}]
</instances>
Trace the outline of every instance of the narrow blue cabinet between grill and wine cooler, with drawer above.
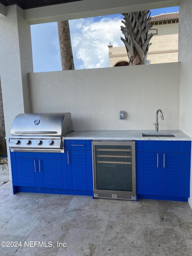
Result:
<instances>
[{"instance_id":1,"label":"narrow blue cabinet between grill and wine cooler, with drawer above","mask_svg":"<svg viewBox=\"0 0 192 256\"><path fill-rule=\"evenodd\" d=\"M93 191L91 140L65 140L69 189Z\"/></svg>"}]
</instances>

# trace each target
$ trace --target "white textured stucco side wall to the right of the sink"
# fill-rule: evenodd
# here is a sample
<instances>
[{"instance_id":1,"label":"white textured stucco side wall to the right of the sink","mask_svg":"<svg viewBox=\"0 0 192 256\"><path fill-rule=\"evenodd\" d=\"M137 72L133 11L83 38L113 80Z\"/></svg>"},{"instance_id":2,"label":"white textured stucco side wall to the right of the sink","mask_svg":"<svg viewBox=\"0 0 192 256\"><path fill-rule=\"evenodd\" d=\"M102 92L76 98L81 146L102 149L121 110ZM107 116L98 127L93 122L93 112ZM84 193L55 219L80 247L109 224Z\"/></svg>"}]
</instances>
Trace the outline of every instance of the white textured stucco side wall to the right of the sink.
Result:
<instances>
[{"instance_id":1,"label":"white textured stucco side wall to the right of the sink","mask_svg":"<svg viewBox=\"0 0 192 256\"><path fill-rule=\"evenodd\" d=\"M180 130L192 137L192 3L182 0L179 6ZM192 166L192 164L191 164ZM192 168L189 204L192 208Z\"/></svg>"}]
</instances>

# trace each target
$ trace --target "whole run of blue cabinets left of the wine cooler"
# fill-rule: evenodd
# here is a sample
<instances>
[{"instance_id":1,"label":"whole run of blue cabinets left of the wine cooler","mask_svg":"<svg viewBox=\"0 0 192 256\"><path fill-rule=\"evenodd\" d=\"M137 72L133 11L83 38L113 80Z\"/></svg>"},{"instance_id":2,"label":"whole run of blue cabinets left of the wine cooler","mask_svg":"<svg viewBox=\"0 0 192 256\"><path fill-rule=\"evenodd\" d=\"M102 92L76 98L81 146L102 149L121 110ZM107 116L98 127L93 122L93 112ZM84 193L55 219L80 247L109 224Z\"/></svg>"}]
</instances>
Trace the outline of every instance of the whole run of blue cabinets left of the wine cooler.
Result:
<instances>
[{"instance_id":1,"label":"whole run of blue cabinets left of the wine cooler","mask_svg":"<svg viewBox=\"0 0 192 256\"><path fill-rule=\"evenodd\" d=\"M10 152L13 194L92 195L91 140L65 140L64 153Z\"/></svg>"}]
</instances>

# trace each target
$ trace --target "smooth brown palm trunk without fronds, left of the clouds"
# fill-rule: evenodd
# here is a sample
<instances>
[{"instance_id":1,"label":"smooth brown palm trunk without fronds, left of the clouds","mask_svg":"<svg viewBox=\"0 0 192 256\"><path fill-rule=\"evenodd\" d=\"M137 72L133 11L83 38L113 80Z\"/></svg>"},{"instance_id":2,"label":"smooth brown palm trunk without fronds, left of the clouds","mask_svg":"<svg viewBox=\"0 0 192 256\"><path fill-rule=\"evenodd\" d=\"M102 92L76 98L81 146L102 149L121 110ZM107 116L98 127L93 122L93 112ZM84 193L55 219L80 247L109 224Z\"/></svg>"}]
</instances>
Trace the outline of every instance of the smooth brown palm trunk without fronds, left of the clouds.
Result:
<instances>
[{"instance_id":1,"label":"smooth brown palm trunk without fronds, left of the clouds","mask_svg":"<svg viewBox=\"0 0 192 256\"><path fill-rule=\"evenodd\" d=\"M61 52L62 70L75 69L73 62L73 53L70 39L70 29L68 20L58 21L59 46Z\"/></svg>"}]
</instances>

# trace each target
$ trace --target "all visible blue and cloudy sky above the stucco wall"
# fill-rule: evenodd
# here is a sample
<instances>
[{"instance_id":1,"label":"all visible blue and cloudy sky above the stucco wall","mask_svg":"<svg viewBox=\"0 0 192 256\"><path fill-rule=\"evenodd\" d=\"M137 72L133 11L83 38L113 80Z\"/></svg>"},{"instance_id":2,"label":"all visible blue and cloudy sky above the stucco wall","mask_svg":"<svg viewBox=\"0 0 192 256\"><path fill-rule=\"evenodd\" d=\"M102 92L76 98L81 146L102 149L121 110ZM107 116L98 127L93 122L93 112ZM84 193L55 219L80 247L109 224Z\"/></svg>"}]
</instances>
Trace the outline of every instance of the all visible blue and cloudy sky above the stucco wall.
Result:
<instances>
[{"instance_id":1,"label":"all visible blue and cloudy sky above the stucco wall","mask_svg":"<svg viewBox=\"0 0 192 256\"><path fill-rule=\"evenodd\" d=\"M177 7L151 10L151 16L178 11ZM124 46L121 14L69 20L75 69L109 67L109 48ZM34 72L60 71L57 23L31 25Z\"/></svg>"}]
</instances>

